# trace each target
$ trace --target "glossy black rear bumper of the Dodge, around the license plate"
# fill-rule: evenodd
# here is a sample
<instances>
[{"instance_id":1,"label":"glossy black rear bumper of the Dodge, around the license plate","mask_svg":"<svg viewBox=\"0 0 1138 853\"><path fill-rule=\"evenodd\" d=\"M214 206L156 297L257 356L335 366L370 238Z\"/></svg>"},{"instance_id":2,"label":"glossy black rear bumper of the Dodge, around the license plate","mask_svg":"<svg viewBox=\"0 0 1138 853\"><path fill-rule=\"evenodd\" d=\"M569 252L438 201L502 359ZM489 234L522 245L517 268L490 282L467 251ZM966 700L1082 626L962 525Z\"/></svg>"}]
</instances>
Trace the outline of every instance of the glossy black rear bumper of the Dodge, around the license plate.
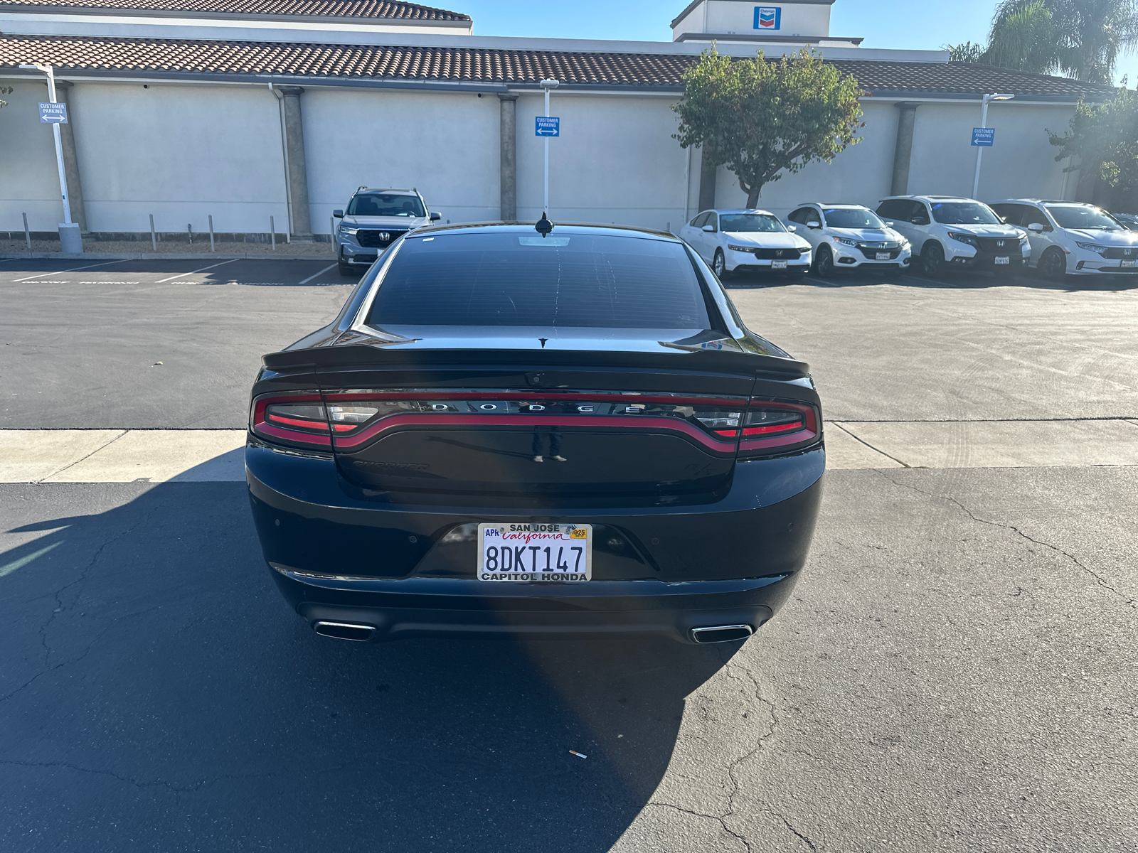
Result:
<instances>
[{"instance_id":1,"label":"glossy black rear bumper of the Dodge, around the license plate","mask_svg":"<svg viewBox=\"0 0 1138 853\"><path fill-rule=\"evenodd\" d=\"M757 629L786 599L817 520L825 452L741 462L714 503L571 510L382 503L352 497L331 459L250 445L246 462L265 560L313 626L368 626L376 639L608 632L691 641L693 628ZM495 520L591 523L621 545L610 553L594 544L591 581L478 581L473 545L443 539Z\"/></svg>"}]
</instances>

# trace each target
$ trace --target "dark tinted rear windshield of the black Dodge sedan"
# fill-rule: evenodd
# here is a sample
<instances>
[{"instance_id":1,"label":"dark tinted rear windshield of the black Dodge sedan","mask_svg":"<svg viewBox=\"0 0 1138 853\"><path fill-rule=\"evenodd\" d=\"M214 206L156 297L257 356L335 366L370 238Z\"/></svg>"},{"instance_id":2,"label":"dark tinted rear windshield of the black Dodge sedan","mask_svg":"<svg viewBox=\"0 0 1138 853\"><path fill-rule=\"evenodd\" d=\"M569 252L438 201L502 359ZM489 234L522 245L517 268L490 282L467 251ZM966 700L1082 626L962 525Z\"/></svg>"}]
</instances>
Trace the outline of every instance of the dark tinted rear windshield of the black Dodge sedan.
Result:
<instances>
[{"instance_id":1,"label":"dark tinted rear windshield of the black Dodge sedan","mask_svg":"<svg viewBox=\"0 0 1138 853\"><path fill-rule=\"evenodd\" d=\"M555 232L407 239L368 323L711 328L681 243Z\"/></svg>"}]
</instances>

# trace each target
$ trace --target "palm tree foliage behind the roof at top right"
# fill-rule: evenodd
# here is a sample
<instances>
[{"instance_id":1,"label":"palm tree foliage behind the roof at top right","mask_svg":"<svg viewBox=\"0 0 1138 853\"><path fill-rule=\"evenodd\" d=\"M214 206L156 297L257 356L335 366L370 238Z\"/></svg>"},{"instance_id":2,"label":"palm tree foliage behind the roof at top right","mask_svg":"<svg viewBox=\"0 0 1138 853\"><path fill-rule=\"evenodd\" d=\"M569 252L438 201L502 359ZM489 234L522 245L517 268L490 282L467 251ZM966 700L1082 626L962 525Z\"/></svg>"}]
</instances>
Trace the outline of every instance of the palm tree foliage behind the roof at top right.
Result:
<instances>
[{"instance_id":1,"label":"palm tree foliage behind the roof at top right","mask_svg":"<svg viewBox=\"0 0 1138 853\"><path fill-rule=\"evenodd\" d=\"M1119 57L1136 45L1138 0L1001 0L986 48L945 48L954 61L1113 83Z\"/></svg>"}]
</instances>

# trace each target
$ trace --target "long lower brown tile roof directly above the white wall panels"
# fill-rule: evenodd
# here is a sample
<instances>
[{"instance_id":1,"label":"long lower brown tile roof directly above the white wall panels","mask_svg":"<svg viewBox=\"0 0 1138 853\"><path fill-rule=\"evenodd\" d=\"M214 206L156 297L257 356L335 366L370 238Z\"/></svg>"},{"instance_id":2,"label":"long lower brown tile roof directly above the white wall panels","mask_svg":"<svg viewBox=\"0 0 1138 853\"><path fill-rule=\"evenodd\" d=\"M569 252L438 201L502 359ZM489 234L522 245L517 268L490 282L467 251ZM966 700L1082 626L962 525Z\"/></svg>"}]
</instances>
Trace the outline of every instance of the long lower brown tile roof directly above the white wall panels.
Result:
<instances>
[{"instance_id":1,"label":"long lower brown tile roof directly above the white wall panels","mask_svg":"<svg viewBox=\"0 0 1138 853\"><path fill-rule=\"evenodd\" d=\"M63 74L99 76L114 72L175 77L279 75L497 86L553 78L567 85L679 91L684 69L696 60L687 53L0 35L0 66L39 63L53 65ZM1102 99L1114 91L1067 77L967 63L830 61L842 74L852 74L868 94L898 99L1003 91L1021 98L1074 101Z\"/></svg>"}]
</instances>

